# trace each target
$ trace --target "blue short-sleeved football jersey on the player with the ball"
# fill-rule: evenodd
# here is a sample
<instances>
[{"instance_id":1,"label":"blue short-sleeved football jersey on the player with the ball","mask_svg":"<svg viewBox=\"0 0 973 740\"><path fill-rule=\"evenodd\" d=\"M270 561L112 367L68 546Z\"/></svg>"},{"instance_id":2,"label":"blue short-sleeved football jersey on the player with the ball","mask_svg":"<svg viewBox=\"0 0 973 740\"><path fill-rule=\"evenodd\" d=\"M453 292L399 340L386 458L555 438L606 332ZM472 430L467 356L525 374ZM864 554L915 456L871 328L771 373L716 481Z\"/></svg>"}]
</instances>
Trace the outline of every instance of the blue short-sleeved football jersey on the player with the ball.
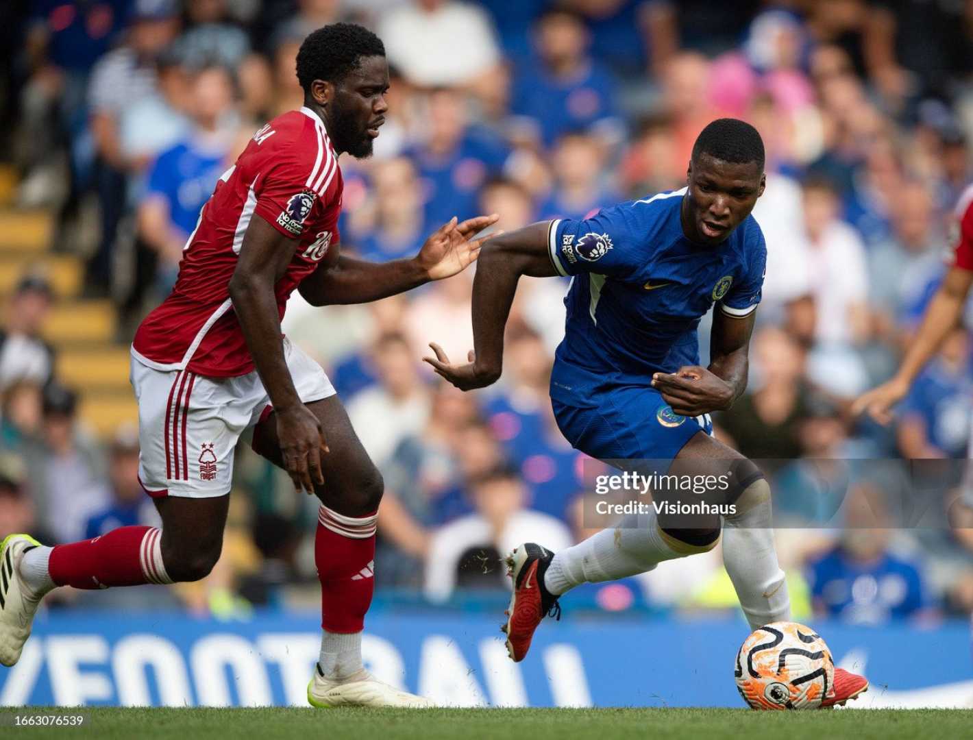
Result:
<instances>
[{"instance_id":1,"label":"blue short-sleeved football jersey on the player with the ball","mask_svg":"<svg viewBox=\"0 0 973 740\"><path fill-rule=\"evenodd\" d=\"M690 241L686 189L551 223L548 247L572 276L551 397L593 406L598 392L648 386L652 373L698 365L697 327L713 303L735 317L760 302L767 247L753 216L715 247Z\"/></svg>"}]
</instances>

